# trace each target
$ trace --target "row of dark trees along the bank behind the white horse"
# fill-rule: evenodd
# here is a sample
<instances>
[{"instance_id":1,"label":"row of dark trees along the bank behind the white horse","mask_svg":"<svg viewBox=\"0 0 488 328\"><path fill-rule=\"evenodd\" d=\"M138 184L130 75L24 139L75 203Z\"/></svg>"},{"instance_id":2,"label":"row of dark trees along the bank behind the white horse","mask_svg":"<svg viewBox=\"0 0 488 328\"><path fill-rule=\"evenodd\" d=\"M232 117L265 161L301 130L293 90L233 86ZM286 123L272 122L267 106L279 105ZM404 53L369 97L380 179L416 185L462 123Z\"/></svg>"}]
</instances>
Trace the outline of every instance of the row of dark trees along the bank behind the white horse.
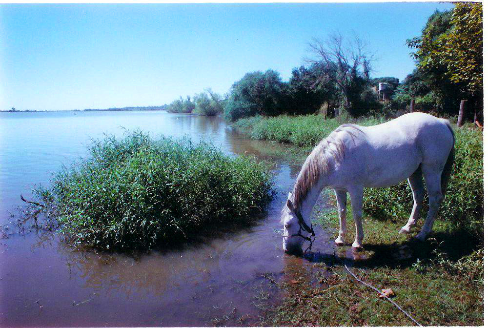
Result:
<instances>
[{"instance_id":1,"label":"row of dark trees along the bank behind the white horse","mask_svg":"<svg viewBox=\"0 0 488 328\"><path fill-rule=\"evenodd\" d=\"M435 11L420 37L406 41L416 68L403 82L394 77L370 77L374 55L359 37L332 34L308 43L310 57L284 82L278 72L249 72L234 82L224 116L236 121L253 115L310 114L337 109L353 117L417 109L455 115L467 100L467 115L482 109L482 5L459 2L452 10ZM384 83L380 101L378 83Z\"/></svg>"}]
</instances>

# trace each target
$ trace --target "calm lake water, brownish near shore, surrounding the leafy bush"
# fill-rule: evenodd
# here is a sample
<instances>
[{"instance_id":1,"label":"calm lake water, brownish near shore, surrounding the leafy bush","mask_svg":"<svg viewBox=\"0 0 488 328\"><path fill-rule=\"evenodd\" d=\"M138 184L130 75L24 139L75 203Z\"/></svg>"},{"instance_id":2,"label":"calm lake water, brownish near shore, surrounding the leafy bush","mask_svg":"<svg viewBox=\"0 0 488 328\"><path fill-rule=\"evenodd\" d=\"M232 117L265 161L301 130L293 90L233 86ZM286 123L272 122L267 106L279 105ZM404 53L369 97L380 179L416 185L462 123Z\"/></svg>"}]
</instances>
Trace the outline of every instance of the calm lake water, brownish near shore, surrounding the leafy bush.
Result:
<instances>
[{"instance_id":1,"label":"calm lake water, brownish near shore, surrounding the leafy bush","mask_svg":"<svg viewBox=\"0 0 488 328\"><path fill-rule=\"evenodd\" d=\"M309 262L281 249L279 213L302 164L285 146L248 140L219 118L162 112L1 113L0 326L250 326L279 303L275 283ZM20 231L19 194L86 156L103 132L187 135L273 164L276 197L252 226L223 227L188 245L133 256L73 251L56 235ZM319 204L320 209L324 204ZM12 217L14 215L14 217ZM332 253L318 226L314 251Z\"/></svg>"}]
</instances>

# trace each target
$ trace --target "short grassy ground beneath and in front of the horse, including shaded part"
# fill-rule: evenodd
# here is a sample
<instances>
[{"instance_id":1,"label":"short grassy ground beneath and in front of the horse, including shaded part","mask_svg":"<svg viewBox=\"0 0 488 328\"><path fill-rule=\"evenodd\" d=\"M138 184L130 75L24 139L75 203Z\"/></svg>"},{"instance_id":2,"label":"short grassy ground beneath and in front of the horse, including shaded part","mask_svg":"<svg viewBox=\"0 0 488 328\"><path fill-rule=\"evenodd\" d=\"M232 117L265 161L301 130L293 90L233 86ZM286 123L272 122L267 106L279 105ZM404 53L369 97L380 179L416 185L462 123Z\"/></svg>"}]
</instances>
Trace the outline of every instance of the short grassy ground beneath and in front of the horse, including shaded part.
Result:
<instances>
[{"instance_id":1,"label":"short grassy ground beneath and in front of the horse, including shaded part","mask_svg":"<svg viewBox=\"0 0 488 328\"><path fill-rule=\"evenodd\" d=\"M350 204L347 211L350 246L355 233ZM335 238L337 211L330 210L318 221ZM440 223L434 225L430 239L417 242L398 234L401 226L401 222L366 216L365 251L356 253L357 259L351 261L344 257L349 246L336 247L336 255L326 258L325 263L313 264L313 270L300 272L292 283L282 281L285 297L281 305L268 308L260 324L414 325L374 290L357 283L344 269L345 261L363 281L379 289L392 288L394 301L424 326L482 326L484 251L477 249L476 240Z\"/></svg>"}]
</instances>

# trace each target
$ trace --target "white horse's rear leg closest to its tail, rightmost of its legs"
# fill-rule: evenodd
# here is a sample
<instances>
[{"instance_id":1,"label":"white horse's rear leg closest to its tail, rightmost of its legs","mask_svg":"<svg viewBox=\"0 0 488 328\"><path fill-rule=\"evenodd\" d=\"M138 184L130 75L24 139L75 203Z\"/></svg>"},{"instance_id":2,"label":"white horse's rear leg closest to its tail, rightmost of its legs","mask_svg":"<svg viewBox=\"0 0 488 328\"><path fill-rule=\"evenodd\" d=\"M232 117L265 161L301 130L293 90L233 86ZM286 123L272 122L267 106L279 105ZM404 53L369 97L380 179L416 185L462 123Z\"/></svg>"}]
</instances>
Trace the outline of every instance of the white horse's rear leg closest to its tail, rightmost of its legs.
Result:
<instances>
[{"instance_id":1,"label":"white horse's rear leg closest to its tail, rightmost of its legs","mask_svg":"<svg viewBox=\"0 0 488 328\"><path fill-rule=\"evenodd\" d=\"M442 168L435 169L430 166L422 166L422 171L426 179L427 193L428 193L428 214L422 230L415 236L415 238L420 240L425 240L427 234L432 230L432 225L434 225L435 215L441 206L444 195L442 194L441 188L441 174Z\"/></svg>"}]
</instances>

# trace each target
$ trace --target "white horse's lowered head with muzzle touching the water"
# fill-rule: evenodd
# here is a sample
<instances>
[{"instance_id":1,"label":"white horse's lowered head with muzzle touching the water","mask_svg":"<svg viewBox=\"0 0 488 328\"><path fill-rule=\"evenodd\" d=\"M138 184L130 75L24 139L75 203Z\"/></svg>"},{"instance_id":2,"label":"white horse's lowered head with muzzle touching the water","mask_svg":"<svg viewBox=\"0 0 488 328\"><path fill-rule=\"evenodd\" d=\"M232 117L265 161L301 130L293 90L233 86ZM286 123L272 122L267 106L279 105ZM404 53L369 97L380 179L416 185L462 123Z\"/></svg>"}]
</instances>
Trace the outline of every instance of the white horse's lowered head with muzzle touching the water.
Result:
<instances>
[{"instance_id":1,"label":"white horse's lowered head with muzzle touching the water","mask_svg":"<svg viewBox=\"0 0 488 328\"><path fill-rule=\"evenodd\" d=\"M301 214L297 211L288 194L286 205L281 212L281 222L283 222L283 250L286 254L302 256L302 246L305 239L302 237L304 231L301 224ZM303 218L302 218L303 221Z\"/></svg>"}]
</instances>

